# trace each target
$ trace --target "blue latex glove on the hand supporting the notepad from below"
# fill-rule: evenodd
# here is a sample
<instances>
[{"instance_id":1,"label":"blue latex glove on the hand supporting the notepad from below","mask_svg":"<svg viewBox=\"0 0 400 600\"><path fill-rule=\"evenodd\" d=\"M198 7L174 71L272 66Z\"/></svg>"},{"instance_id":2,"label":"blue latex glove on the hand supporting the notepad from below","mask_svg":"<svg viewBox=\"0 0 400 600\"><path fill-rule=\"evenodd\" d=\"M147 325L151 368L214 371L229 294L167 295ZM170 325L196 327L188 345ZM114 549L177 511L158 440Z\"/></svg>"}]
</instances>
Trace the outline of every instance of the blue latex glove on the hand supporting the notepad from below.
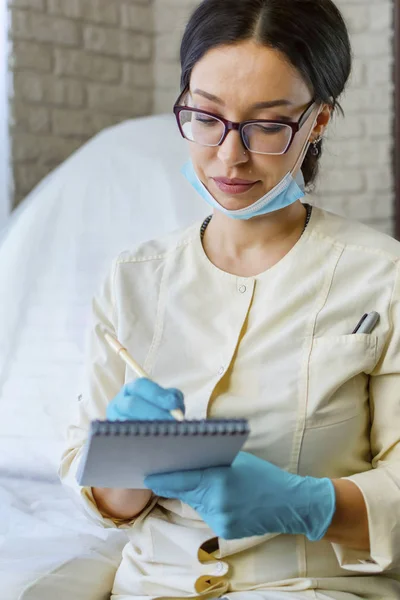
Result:
<instances>
[{"instance_id":1,"label":"blue latex glove on the hand supporting the notepad from below","mask_svg":"<svg viewBox=\"0 0 400 600\"><path fill-rule=\"evenodd\" d=\"M292 475L240 452L230 467L149 475L154 494L189 504L221 538L267 533L322 539L335 513L330 479Z\"/></svg>"}]
</instances>

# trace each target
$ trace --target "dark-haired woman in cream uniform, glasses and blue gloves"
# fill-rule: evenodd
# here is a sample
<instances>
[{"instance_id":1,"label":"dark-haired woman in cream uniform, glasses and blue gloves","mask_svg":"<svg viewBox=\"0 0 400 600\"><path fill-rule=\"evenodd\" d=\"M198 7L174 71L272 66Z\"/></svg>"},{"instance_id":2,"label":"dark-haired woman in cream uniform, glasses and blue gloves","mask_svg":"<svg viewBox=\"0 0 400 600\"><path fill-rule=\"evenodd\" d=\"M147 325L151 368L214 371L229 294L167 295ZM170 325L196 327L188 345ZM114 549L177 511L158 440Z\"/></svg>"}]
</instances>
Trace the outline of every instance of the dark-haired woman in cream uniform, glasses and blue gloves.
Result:
<instances>
[{"instance_id":1,"label":"dark-haired woman in cream uniform, glasses and blue gloves","mask_svg":"<svg viewBox=\"0 0 400 600\"><path fill-rule=\"evenodd\" d=\"M114 262L61 477L127 530L114 600L398 598L400 246L301 202L350 73L343 19L331 0L205 0L181 61L184 173L213 215ZM167 387L132 383L104 330ZM174 408L246 417L245 451L148 490L77 486L90 420Z\"/></svg>"}]
</instances>

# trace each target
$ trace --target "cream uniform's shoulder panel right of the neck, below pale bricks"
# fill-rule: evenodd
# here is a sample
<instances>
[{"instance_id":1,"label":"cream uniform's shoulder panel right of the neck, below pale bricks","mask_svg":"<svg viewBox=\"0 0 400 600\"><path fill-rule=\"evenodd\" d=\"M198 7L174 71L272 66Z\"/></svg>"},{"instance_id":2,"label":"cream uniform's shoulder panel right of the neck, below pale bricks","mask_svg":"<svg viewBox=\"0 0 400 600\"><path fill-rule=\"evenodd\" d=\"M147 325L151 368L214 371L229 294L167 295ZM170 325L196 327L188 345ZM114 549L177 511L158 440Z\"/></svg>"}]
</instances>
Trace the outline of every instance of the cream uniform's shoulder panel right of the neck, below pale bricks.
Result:
<instances>
[{"instance_id":1,"label":"cream uniform's shoulder panel right of the neck, below pale bricks","mask_svg":"<svg viewBox=\"0 0 400 600\"><path fill-rule=\"evenodd\" d=\"M317 240L324 239L339 245L346 253L376 256L398 263L400 242L393 237L321 208L314 207L314 211L315 225L312 233Z\"/></svg>"}]
</instances>

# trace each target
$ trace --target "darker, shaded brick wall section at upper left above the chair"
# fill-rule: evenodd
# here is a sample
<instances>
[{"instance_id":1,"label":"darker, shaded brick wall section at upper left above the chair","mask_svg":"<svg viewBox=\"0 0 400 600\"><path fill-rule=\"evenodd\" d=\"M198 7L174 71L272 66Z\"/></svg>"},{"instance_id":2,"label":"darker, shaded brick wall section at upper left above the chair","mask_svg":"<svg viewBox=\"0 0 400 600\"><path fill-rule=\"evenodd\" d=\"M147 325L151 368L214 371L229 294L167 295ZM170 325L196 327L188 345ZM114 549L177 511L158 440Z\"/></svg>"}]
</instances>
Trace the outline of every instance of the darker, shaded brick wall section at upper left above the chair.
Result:
<instances>
[{"instance_id":1,"label":"darker, shaded brick wall section at upper left above the chair","mask_svg":"<svg viewBox=\"0 0 400 600\"><path fill-rule=\"evenodd\" d=\"M95 133L152 112L151 0L9 0L18 203Z\"/></svg>"}]
</instances>

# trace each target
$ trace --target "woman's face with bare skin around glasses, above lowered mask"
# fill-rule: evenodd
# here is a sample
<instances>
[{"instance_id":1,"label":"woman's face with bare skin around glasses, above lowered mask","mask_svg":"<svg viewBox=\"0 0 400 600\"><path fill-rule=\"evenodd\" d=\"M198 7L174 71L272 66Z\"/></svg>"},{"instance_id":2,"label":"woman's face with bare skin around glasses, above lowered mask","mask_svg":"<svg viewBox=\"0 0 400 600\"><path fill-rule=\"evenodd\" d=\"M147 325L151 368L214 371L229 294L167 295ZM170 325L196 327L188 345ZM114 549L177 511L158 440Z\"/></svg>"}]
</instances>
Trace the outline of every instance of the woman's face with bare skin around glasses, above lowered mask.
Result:
<instances>
[{"instance_id":1,"label":"woman's face with bare skin around glasses, above lowered mask","mask_svg":"<svg viewBox=\"0 0 400 600\"><path fill-rule=\"evenodd\" d=\"M209 51L193 69L188 96L190 106L235 122L252 119L295 122L311 100L311 91L285 57L253 41ZM254 108L261 102L277 104ZM245 152L238 131L230 131L218 147L189 143L200 180L224 208L238 210L250 206L293 169L306 139L315 138L310 128L317 110L315 107L289 151L281 156ZM221 189L215 178L256 183L233 194L229 188Z\"/></svg>"}]
</instances>

